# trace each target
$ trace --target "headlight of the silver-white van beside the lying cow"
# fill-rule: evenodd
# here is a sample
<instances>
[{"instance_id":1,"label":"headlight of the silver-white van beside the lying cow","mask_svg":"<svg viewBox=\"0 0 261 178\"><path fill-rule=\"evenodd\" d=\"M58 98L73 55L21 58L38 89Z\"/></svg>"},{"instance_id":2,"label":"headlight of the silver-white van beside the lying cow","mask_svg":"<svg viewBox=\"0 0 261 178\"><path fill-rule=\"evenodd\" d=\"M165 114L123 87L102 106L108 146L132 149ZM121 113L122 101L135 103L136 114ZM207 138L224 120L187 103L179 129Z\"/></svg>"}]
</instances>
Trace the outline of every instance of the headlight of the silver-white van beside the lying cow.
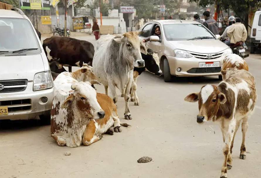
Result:
<instances>
[{"instance_id":1,"label":"headlight of the silver-white van beside the lying cow","mask_svg":"<svg viewBox=\"0 0 261 178\"><path fill-rule=\"evenodd\" d=\"M48 89L52 87L53 81L50 71L40 72L34 75L33 91Z\"/></svg>"}]
</instances>

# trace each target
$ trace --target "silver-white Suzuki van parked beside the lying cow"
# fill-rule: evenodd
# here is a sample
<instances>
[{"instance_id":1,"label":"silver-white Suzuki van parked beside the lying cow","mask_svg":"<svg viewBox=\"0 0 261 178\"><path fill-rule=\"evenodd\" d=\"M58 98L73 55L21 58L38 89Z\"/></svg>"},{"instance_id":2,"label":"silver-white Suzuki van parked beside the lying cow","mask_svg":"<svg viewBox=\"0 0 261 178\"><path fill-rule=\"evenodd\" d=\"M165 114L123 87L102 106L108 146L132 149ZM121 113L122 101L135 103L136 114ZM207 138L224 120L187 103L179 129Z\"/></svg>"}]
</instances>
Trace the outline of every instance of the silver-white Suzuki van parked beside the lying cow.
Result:
<instances>
[{"instance_id":1,"label":"silver-white Suzuki van parked beside the lying cow","mask_svg":"<svg viewBox=\"0 0 261 178\"><path fill-rule=\"evenodd\" d=\"M54 84L40 39L17 8L0 9L0 120L50 123Z\"/></svg>"}]
</instances>

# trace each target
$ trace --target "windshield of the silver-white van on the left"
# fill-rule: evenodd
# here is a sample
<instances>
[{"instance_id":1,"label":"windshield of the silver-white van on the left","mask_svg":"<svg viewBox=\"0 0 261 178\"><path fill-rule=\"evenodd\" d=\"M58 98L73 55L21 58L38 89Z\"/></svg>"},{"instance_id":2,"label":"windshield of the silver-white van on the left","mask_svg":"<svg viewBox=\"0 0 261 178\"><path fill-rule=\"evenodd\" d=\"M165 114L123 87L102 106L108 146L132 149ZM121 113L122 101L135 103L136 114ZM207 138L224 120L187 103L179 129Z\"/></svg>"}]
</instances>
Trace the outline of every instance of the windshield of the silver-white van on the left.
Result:
<instances>
[{"instance_id":1,"label":"windshield of the silver-white van on the left","mask_svg":"<svg viewBox=\"0 0 261 178\"><path fill-rule=\"evenodd\" d=\"M38 42L30 22L26 19L0 18L0 54L3 52L33 51Z\"/></svg>"}]
</instances>

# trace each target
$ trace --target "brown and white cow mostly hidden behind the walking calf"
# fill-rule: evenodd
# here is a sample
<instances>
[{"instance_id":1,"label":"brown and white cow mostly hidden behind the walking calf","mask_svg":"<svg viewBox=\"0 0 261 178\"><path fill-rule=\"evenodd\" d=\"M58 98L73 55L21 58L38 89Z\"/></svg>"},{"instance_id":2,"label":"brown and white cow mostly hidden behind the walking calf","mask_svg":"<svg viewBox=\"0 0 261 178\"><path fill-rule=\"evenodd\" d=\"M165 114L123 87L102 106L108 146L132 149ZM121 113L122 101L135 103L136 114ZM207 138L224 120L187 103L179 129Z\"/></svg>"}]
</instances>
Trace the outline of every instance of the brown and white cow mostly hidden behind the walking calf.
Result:
<instances>
[{"instance_id":1,"label":"brown and white cow mostly hidden behind the walking calf","mask_svg":"<svg viewBox=\"0 0 261 178\"><path fill-rule=\"evenodd\" d=\"M237 54L228 54L223 60L221 71L225 71L228 68L235 68L238 70L245 69L246 71L248 71L248 64L242 57L238 56Z\"/></svg>"}]
</instances>

